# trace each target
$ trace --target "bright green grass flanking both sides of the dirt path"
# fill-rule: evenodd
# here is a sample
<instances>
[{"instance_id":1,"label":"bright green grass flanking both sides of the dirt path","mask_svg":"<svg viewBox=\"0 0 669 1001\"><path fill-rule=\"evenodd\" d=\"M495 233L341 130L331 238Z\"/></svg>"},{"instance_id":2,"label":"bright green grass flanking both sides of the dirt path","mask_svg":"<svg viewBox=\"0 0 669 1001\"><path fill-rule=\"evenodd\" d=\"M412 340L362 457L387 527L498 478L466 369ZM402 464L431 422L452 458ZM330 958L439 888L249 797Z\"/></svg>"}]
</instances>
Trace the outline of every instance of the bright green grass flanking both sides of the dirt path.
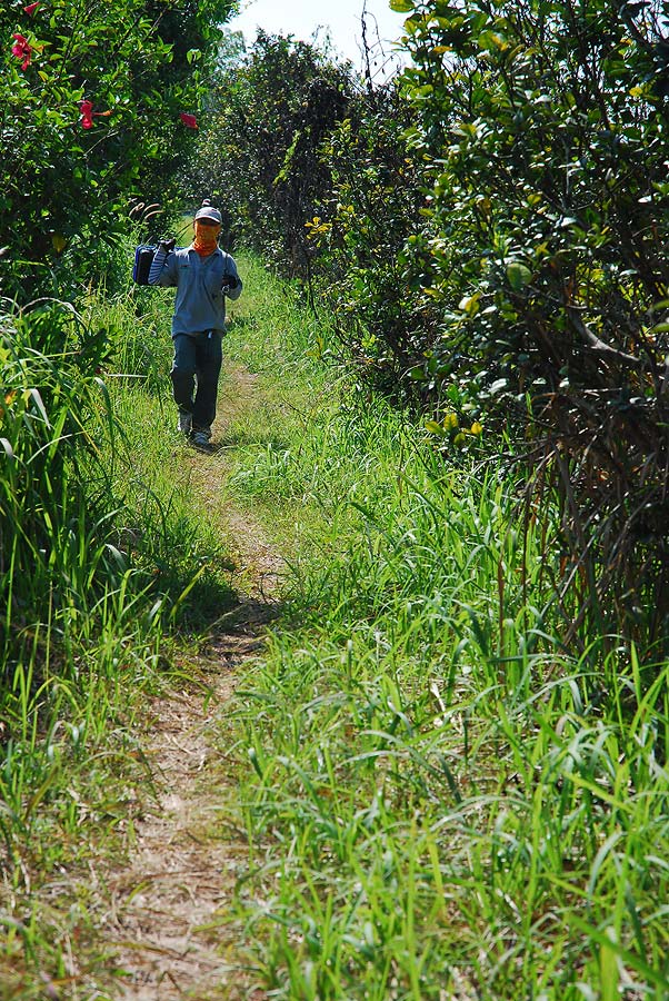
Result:
<instances>
[{"instance_id":1,"label":"bright green grass flanking both sides of the dirt path","mask_svg":"<svg viewBox=\"0 0 669 1001\"><path fill-rule=\"evenodd\" d=\"M492 440L448 458L351 389L329 331L241 270L226 347L259 406L228 489L289 571L222 736L250 854L221 921L276 998L665 998L667 662L569 647L552 499ZM144 781L132 696L229 601L173 475L168 315L133 289L52 305L39 347L4 321L0 997L98 990L83 873Z\"/></svg>"}]
</instances>

